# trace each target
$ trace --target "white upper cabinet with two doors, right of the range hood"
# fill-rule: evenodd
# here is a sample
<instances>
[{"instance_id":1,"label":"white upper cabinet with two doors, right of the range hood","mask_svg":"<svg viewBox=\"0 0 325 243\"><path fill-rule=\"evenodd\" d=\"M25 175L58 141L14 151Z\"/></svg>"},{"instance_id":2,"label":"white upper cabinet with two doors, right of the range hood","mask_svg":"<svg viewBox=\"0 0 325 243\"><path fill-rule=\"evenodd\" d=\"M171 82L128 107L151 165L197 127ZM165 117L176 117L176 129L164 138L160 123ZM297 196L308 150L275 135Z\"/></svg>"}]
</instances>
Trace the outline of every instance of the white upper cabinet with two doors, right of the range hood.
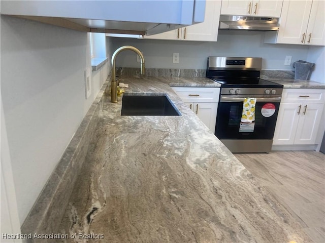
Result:
<instances>
[{"instance_id":1,"label":"white upper cabinet with two doors, right of the range hood","mask_svg":"<svg viewBox=\"0 0 325 243\"><path fill-rule=\"evenodd\" d=\"M325 45L325 1L284 0L279 31L266 33L266 43Z\"/></svg>"}]
</instances>

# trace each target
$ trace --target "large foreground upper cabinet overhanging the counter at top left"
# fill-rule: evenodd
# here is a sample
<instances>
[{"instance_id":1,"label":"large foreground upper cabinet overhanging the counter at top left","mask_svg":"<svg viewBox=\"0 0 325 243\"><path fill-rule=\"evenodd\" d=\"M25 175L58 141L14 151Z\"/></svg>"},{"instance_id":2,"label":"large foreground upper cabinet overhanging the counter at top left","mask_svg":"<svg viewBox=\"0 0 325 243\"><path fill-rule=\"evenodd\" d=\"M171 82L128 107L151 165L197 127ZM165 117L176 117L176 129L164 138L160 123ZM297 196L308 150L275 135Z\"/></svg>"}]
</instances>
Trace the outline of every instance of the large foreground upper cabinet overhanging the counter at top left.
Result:
<instances>
[{"instance_id":1,"label":"large foreground upper cabinet overhanging the counter at top left","mask_svg":"<svg viewBox=\"0 0 325 243\"><path fill-rule=\"evenodd\" d=\"M205 0L2 0L0 10L86 32L151 35L203 22Z\"/></svg>"}]
</instances>

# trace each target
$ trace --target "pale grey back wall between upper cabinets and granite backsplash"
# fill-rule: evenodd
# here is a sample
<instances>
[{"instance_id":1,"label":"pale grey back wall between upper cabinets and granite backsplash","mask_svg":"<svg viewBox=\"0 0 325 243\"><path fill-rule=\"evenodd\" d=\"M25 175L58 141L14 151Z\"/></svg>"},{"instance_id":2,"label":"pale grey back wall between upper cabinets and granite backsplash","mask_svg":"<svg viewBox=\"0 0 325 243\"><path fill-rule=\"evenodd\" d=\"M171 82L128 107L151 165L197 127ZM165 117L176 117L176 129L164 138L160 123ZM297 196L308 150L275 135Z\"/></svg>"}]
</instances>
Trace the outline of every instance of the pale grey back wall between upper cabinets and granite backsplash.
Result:
<instances>
[{"instance_id":1,"label":"pale grey back wall between upper cabinets and granite backsplash","mask_svg":"<svg viewBox=\"0 0 325 243\"><path fill-rule=\"evenodd\" d=\"M148 68L206 69L209 56L262 57L263 69L294 70L292 63L298 60L322 62L318 47L284 44L264 44L265 32L219 30L218 41L187 42L155 39L113 38L113 49L123 45L139 48ZM315 49L315 51L314 51ZM323 52L323 48L320 50ZM179 63L172 63L173 53L179 53ZM323 54L322 54L323 55ZM292 56L290 66L284 65L285 56ZM318 56L318 58L317 58ZM122 52L116 60L118 67L139 67L133 52ZM318 69L313 80L324 82L323 69Z\"/></svg>"}]
</instances>

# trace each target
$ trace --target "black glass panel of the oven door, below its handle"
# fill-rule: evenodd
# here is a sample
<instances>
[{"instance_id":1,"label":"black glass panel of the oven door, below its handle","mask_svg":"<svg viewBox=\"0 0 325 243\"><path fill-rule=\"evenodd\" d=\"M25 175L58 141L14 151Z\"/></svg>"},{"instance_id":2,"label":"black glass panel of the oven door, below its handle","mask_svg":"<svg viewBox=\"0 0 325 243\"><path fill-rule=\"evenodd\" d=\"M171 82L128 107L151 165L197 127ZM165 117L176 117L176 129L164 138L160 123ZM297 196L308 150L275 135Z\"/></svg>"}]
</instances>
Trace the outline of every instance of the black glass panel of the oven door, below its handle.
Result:
<instances>
[{"instance_id":1,"label":"black glass panel of the oven door, below its handle","mask_svg":"<svg viewBox=\"0 0 325 243\"><path fill-rule=\"evenodd\" d=\"M275 107L272 115L265 114L265 105ZM253 124L242 124L242 102L220 102L215 135L219 139L273 139L280 103L257 102ZM262 114L263 113L263 114ZM242 129L245 128L245 129Z\"/></svg>"}]
</instances>

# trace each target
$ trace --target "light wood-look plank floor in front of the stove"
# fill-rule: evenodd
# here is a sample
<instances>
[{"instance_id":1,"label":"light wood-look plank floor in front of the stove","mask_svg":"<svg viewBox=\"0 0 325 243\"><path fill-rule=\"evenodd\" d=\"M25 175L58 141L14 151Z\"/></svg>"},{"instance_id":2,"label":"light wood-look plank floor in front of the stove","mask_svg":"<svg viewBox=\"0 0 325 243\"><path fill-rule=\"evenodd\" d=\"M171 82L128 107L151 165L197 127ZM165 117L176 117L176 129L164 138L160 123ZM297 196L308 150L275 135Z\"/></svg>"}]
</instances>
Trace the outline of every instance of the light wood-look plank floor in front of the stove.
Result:
<instances>
[{"instance_id":1,"label":"light wood-look plank floor in front of the stove","mask_svg":"<svg viewBox=\"0 0 325 243\"><path fill-rule=\"evenodd\" d=\"M297 219L312 240L325 242L325 154L272 151L235 156Z\"/></svg>"}]
</instances>

